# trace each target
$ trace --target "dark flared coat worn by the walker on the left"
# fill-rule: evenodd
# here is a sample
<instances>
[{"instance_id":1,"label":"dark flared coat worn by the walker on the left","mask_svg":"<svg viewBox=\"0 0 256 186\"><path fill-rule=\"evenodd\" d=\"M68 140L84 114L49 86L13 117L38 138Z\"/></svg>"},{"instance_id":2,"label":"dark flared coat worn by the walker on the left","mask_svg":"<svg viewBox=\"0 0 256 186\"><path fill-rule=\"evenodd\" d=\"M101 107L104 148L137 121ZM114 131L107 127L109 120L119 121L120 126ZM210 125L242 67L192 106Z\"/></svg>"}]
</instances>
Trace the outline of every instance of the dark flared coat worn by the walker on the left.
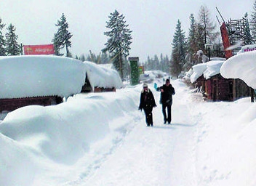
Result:
<instances>
[{"instance_id":1,"label":"dark flared coat worn by the walker on the left","mask_svg":"<svg viewBox=\"0 0 256 186\"><path fill-rule=\"evenodd\" d=\"M156 107L155 98L153 97L153 94L150 89L148 91L143 91L140 94L140 106L139 109L144 110L152 110L153 107Z\"/></svg>"}]
</instances>

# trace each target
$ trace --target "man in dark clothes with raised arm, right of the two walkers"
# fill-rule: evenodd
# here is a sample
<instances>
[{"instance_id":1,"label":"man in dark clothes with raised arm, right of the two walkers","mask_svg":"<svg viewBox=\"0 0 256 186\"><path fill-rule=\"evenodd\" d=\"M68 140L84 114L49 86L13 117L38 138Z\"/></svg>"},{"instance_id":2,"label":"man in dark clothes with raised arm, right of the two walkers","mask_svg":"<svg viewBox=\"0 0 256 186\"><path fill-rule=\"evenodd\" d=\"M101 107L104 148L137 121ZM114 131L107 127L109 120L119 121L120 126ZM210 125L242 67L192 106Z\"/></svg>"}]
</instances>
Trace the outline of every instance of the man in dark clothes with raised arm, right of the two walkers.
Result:
<instances>
[{"instance_id":1,"label":"man in dark clothes with raised arm, right of the two walkers","mask_svg":"<svg viewBox=\"0 0 256 186\"><path fill-rule=\"evenodd\" d=\"M162 112L164 116L164 124L168 122L171 124L172 121L172 95L175 94L175 88L169 83L169 79L165 81L163 86L160 86L161 97L160 103L162 105ZM167 108L167 113L166 113Z\"/></svg>"}]
</instances>

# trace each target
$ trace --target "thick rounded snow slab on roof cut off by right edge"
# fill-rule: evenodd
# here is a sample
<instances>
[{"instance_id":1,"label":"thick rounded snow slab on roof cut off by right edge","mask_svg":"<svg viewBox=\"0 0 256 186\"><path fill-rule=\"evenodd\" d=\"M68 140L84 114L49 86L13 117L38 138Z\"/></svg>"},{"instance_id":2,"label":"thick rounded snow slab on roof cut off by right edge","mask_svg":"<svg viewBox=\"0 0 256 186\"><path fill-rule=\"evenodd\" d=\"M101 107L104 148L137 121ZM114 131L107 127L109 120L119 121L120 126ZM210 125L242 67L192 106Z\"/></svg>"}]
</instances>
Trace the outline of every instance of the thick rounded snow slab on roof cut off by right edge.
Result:
<instances>
[{"instance_id":1,"label":"thick rounded snow slab on roof cut off by right edge","mask_svg":"<svg viewBox=\"0 0 256 186\"><path fill-rule=\"evenodd\" d=\"M256 89L255 72L256 51L236 54L226 60L220 69L220 74L224 78L240 78L254 89Z\"/></svg>"}]
</instances>

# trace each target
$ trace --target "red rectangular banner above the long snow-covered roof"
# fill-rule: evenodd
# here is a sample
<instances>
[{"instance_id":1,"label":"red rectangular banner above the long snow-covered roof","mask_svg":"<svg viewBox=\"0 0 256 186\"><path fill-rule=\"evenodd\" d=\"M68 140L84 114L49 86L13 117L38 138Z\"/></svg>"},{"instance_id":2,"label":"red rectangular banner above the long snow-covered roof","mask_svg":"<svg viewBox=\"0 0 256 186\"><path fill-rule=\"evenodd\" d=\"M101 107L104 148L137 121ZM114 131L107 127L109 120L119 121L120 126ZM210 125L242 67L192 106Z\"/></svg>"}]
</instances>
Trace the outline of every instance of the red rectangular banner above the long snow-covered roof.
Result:
<instances>
[{"instance_id":1,"label":"red rectangular banner above the long snow-covered roof","mask_svg":"<svg viewBox=\"0 0 256 186\"><path fill-rule=\"evenodd\" d=\"M44 45L24 45L25 55L55 54L53 44Z\"/></svg>"}]
</instances>

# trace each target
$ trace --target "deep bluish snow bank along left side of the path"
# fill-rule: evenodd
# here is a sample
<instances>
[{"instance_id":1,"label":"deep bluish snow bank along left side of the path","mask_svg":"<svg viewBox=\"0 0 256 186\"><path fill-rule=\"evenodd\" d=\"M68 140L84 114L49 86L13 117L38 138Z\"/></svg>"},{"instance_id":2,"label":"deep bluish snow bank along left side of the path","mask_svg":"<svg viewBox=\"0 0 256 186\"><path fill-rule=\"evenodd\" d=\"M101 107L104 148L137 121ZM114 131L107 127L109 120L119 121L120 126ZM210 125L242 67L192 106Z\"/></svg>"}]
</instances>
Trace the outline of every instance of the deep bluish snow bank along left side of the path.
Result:
<instances>
[{"instance_id":1,"label":"deep bluish snow bank along left side of the path","mask_svg":"<svg viewBox=\"0 0 256 186\"><path fill-rule=\"evenodd\" d=\"M116 116L137 111L138 97L139 89L136 94L134 89L77 94L60 105L31 105L8 113L0 123L0 185L33 185L31 177L42 159L76 163L90 144L111 132L109 123Z\"/></svg>"}]
</instances>

